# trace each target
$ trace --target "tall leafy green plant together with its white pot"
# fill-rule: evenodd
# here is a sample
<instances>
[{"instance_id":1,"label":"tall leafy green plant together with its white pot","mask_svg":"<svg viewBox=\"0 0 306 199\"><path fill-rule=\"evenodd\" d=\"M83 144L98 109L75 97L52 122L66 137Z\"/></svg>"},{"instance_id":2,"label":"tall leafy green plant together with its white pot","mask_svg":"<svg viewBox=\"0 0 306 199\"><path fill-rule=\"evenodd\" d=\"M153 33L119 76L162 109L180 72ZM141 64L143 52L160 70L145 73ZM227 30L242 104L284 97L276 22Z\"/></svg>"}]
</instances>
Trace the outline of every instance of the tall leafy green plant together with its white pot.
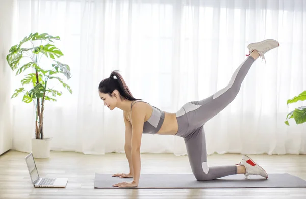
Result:
<instances>
[{"instance_id":1,"label":"tall leafy green plant together with its white pot","mask_svg":"<svg viewBox=\"0 0 306 199\"><path fill-rule=\"evenodd\" d=\"M24 73L27 69L27 71L31 71L21 80L21 84L24 87L16 89L11 98L23 93L22 101L25 103L33 102L35 105L35 137L32 138L32 153L35 158L50 157L50 140L52 138L44 137L44 105L46 100L55 102L57 100L54 97L62 95L61 91L48 88L48 82L51 80L57 81L57 83L72 93L70 86L64 83L62 78L58 76L64 75L69 80L71 73L70 67L67 64L56 60L56 58L63 56L63 53L53 45L54 40L60 40L60 37L54 37L47 33L31 33L28 37L24 37L19 44L12 46L7 55L7 62L11 69L13 71L17 70L16 75ZM25 44L30 46L28 48L22 47ZM48 61L51 61L53 64L49 68L42 67L40 65L42 57L49 59ZM29 59L29 62L19 67L21 59ZM25 89L25 87L29 89Z\"/></svg>"}]
</instances>

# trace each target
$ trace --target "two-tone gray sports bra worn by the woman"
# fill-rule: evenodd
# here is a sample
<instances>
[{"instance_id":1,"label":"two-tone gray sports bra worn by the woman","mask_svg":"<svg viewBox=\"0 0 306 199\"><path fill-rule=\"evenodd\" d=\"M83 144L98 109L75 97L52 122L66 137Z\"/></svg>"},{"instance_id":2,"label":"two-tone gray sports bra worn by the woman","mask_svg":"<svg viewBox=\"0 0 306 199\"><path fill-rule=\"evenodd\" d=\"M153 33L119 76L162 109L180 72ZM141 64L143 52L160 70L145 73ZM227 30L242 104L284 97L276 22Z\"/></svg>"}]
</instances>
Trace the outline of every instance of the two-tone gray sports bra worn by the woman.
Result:
<instances>
[{"instance_id":1,"label":"two-tone gray sports bra worn by the woman","mask_svg":"<svg viewBox=\"0 0 306 199\"><path fill-rule=\"evenodd\" d=\"M135 103L137 102L144 102L144 101L136 100ZM131 103L131 111L132 111L132 106L135 103L133 102ZM147 103L147 102L144 102L144 103ZM160 128L162 127L164 123L165 112L161 111L155 106L152 106L152 107L153 107L152 115L146 122L144 122L142 133L155 134L160 130Z\"/></svg>"}]
</instances>

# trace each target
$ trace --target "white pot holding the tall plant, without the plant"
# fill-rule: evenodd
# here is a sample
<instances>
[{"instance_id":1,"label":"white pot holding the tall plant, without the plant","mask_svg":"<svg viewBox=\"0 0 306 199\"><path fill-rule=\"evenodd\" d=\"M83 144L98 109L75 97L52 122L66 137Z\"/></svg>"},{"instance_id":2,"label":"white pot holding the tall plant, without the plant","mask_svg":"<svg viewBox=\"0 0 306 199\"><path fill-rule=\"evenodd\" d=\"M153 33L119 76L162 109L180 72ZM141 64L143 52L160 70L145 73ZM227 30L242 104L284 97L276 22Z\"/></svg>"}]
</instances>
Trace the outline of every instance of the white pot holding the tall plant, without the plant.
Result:
<instances>
[{"instance_id":1,"label":"white pot holding the tall plant, without the plant","mask_svg":"<svg viewBox=\"0 0 306 199\"><path fill-rule=\"evenodd\" d=\"M50 157L50 142L52 138L35 139L32 138L32 153L34 158Z\"/></svg>"}]
</instances>

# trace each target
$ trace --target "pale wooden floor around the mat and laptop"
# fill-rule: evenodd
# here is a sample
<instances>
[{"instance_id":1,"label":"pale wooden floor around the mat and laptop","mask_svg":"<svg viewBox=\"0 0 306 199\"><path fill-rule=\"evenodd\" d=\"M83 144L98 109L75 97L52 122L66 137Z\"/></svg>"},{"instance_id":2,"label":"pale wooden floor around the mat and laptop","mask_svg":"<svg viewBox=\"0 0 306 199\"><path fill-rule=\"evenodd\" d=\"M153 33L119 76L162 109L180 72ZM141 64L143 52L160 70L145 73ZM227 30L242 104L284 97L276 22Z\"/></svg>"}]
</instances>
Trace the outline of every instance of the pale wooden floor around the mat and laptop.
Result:
<instances>
[{"instance_id":1,"label":"pale wooden floor around the mat and laptop","mask_svg":"<svg viewBox=\"0 0 306 199\"><path fill-rule=\"evenodd\" d=\"M24 157L8 151L0 156L0 198L306 198L306 188L220 189L94 189L94 174L128 169L125 154L84 155L51 152L49 159L35 159L41 177L68 177L66 188L34 188ZM306 155L251 155L267 173L289 173L306 180ZM209 155L209 166L239 163L241 155ZM192 173L187 156L141 154L142 174Z\"/></svg>"}]
</instances>

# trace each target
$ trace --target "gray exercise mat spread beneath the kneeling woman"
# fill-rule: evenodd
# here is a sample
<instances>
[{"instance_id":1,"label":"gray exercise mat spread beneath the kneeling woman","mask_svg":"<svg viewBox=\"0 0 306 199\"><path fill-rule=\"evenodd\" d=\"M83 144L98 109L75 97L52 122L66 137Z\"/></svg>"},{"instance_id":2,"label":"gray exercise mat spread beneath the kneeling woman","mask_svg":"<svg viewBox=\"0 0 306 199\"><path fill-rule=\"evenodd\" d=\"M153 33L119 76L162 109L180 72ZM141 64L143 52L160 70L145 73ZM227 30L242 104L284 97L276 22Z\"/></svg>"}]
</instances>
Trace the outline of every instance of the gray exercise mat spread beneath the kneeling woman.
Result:
<instances>
[{"instance_id":1,"label":"gray exercise mat spread beneath the kneeling woman","mask_svg":"<svg viewBox=\"0 0 306 199\"><path fill-rule=\"evenodd\" d=\"M262 188L262 187L306 187L306 181L290 175L269 174L268 179L261 176L250 175L244 179L243 174L225 176L210 181L197 181L193 174L141 174L138 187L132 188ZM122 188L112 185L133 178L112 177L112 174L95 174L95 188ZM126 187L124 187L126 188Z\"/></svg>"}]
</instances>

